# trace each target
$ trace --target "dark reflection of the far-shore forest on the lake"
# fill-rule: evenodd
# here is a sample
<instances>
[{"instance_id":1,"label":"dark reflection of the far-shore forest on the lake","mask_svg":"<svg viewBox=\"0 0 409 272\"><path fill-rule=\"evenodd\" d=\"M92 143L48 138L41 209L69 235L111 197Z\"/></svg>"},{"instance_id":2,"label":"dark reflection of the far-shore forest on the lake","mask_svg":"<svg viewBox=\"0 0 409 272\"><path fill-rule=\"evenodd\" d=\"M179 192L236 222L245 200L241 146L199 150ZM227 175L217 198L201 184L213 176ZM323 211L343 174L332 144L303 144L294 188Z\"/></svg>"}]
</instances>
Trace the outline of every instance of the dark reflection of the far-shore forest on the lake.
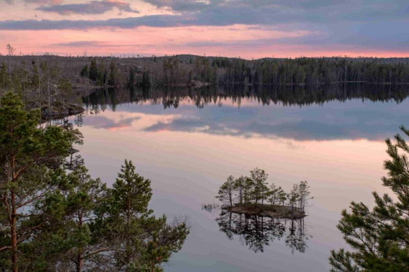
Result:
<instances>
[{"instance_id":1,"label":"dark reflection of the far-shore forest on the lake","mask_svg":"<svg viewBox=\"0 0 409 272\"><path fill-rule=\"evenodd\" d=\"M409 95L405 85L321 85L321 86L208 86L203 88L131 88L102 89L83 98L92 108L107 105L115 111L118 104L137 103L162 104L164 109L178 108L181 103L189 103L197 108L207 105L222 106L226 100L240 106L248 98L264 105L284 106L322 105L329 101L345 102L359 98L372 102L402 102Z\"/></svg>"}]
</instances>

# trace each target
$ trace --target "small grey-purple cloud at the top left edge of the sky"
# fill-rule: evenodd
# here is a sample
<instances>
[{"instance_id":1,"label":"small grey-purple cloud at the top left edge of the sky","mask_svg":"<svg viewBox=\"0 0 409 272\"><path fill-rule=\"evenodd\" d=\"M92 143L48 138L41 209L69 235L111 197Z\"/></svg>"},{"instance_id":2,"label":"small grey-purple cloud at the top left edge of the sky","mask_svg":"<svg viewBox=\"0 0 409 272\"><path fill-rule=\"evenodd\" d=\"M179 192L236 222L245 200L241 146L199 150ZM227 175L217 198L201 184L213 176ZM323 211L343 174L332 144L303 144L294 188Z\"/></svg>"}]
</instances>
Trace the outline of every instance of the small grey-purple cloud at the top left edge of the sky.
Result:
<instances>
[{"instance_id":1,"label":"small grey-purple cloud at the top left edge of the sky","mask_svg":"<svg viewBox=\"0 0 409 272\"><path fill-rule=\"evenodd\" d=\"M107 11L117 8L120 11L139 13L130 7L129 3L115 0L91 1L85 4L65 4L42 6L36 10L44 12L54 12L60 15L70 14L103 14Z\"/></svg>"}]
</instances>

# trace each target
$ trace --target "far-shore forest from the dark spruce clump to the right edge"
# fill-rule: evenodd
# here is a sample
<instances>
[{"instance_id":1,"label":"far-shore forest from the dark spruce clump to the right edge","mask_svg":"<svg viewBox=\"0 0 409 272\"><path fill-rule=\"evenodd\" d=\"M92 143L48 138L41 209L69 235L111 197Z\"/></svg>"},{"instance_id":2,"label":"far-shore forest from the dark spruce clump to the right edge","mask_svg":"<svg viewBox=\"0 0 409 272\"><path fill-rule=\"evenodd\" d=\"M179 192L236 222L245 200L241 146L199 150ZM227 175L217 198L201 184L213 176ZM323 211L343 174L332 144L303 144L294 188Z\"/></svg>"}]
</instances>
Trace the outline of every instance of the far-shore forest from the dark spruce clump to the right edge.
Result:
<instances>
[{"instance_id":1,"label":"far-shore forest from the dark spruce clump to the right edge","mask_svg":"<svg viewBox=\"0 0 409 272\"><path fill-rule=\"evenodd\" d=\"M101 59L91 64L95 72L81 75L106 84L107 69ZM121 86L189 86L197 82L238 85L322 85L339 83L409 84L409 62L376 58L295 58L258 59L172 56L116 59L122 65ZM115 63L111 60L111 64ZM90 69L90 68L89 68ZM108 69L109 70L109 69ZM112 67L110 68L112 71ZM99 75L99 76L98 76Z\"/></svg>"}]
</instances>

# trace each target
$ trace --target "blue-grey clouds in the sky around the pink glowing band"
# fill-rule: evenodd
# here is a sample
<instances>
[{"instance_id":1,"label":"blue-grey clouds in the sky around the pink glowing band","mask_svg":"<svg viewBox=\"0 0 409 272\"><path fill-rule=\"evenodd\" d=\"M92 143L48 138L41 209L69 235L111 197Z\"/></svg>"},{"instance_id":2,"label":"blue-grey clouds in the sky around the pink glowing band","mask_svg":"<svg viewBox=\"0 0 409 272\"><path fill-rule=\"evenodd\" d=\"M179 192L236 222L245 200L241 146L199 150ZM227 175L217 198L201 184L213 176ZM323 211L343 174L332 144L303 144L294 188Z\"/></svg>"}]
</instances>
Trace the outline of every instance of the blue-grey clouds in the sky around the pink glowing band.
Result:
<instances>
[{"instance_id":1,"label":"blue-grey clouds in the sky around the pink glowing band","mask_svg":"<svg viewBox=\"0 0 409 272\"><path fill-rule=\"evenodd\" d=\"M52 0L40 1L52 2ZM141 26L226 27L246 24L252 25L253 29L306 30L309 33L301 37L241 41L220 41L215 37L214 41L198 41L185 45L252 48L252 46L274 44L302 44L316 46L317 50L320 50L320 46L327 46L327 48L331 46L332 49L340 46L341 50L347 48L342 46L350 46L348 50L359 47L361 51L369 48L407 50L409 45L407 38L409 2L401 0L376 2L371 0L145 0L145 2L158 8L171 9L177 14L106 20L5 20L0 21L0 30L86 30L101 27L132 29ZM59 14L100 14L113 8L118 8L120 11L133 11L128 3L109 0L92 1L86 4L43 6L38 9ZM88 43L96 45L89 41Z\"/></svg>"}]
</instances>

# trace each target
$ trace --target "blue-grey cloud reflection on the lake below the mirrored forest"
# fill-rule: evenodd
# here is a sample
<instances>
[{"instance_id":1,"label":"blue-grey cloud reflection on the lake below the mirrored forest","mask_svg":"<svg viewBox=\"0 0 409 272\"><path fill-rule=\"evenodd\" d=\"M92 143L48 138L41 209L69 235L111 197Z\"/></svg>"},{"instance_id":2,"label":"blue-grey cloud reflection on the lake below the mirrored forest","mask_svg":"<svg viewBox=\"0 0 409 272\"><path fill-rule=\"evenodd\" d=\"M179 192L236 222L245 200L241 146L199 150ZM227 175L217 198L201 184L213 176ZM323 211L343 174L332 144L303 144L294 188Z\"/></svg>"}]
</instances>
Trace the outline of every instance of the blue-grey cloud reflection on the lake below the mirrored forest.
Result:
<instances>
[{"instance_id":1,"label":"blue-grey cloud reflection on the lake below the mirrored forest","mask_svg":"<svg viewBox=\"0 0 409 272\"><path fill-rule=\"evenodd\" d=\"M97 116L88 116L86 123L94 128L115 129L131 127L133 120L141 118L137 129L145 132L199 132L297 141L383 141L394 135L400 125L409 125L409 107L405 98L399 103L359 98L344 98L342 102L321 101L319 104L298 101L304 105L302 107L272 104L267 98L258 96L241 97L240 101L223 95L197 100L197 97L165 96L163 93L162 97L151 99L135 101L126 107L121 107L121 104L113 106L118 111L115 114L122 116L121 120L110 119L114 115L107 115L105 111ZM177 105L177 108L171 105ZM135 113L141 116L135 117Z\"/></svg>"}]
</instances>

